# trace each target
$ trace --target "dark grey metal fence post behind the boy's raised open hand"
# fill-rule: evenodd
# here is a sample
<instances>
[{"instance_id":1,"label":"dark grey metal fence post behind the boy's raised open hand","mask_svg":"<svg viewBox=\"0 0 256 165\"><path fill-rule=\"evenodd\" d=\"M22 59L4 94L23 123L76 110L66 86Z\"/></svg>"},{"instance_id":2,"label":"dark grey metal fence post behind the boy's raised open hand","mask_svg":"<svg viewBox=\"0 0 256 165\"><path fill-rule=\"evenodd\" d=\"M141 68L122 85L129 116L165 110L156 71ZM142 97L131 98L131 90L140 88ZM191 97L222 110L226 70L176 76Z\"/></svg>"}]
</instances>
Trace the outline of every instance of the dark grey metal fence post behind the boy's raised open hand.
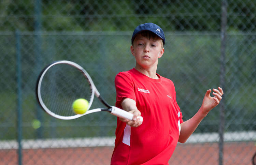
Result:
<instances>
[{"instance_id":1,"label":"dark grey metal fence post behind the boy's raised open hand","mask_svg":"<svg viewBox=\"0 0 256 165\"><path fill-rule=\"evenodd\" d=\"M222 0L221 6L221 75L220 85L225 91L225 56L226 56L226 26L227 26L227 1ZM224 123L225 123L225 102L224 99L220 102L220 122L219 122L219 165L223 165L223 145L224 145Z\"/></svg>"}]
</instances>

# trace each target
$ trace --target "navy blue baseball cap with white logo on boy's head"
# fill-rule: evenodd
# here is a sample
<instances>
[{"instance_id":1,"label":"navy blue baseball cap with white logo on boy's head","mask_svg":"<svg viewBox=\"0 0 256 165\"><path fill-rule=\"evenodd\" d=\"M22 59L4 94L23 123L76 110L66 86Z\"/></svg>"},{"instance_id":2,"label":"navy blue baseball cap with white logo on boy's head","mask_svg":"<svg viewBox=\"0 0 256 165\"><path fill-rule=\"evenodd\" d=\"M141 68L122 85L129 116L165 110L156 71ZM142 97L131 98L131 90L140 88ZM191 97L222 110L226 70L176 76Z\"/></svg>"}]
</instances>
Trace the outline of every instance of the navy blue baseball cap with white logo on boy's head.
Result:
<instances>
[{"instance_id":1,"label":"navy blue baseball cap with white logo on boy's head","mask_svg":"<svg viewBox=\"0 0 256 165\"><path fill-rule=\"evenodd\" d=\"M131 44L133 43L136 35L139 32L142 31L151 31L155 33L157 36L159 36L163 40L163 45L165 45L165 34L163 34L163 30L156 24L153 23L144 23L139 26L137 26L136 29L134 29L132 37L131 37Z\"/></svg>"}]
</instances>

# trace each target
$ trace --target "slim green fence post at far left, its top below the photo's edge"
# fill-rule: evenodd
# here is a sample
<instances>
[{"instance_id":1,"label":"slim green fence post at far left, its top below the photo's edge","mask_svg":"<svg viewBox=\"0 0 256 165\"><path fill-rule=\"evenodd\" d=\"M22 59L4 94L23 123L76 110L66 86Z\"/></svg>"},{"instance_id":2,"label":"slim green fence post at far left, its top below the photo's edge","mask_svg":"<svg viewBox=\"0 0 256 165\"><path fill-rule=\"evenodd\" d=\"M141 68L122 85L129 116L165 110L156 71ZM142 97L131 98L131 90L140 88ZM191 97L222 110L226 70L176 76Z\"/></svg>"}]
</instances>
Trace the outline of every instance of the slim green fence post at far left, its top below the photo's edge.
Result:
<instances>
[{"instance_id":1,"label":"slim green fence post at far left, its top below the photo's edge","mask_svg":"<svg viewBox=\"0 0 256 165\"><path fill-rule=\"evenodd\" d=\"M22 81L21 81L21 58L20 58L20 32L15 31L16 55L17 55L17 133L18 133L18 163L22 165Z\"/></svg>"}]
</instances>

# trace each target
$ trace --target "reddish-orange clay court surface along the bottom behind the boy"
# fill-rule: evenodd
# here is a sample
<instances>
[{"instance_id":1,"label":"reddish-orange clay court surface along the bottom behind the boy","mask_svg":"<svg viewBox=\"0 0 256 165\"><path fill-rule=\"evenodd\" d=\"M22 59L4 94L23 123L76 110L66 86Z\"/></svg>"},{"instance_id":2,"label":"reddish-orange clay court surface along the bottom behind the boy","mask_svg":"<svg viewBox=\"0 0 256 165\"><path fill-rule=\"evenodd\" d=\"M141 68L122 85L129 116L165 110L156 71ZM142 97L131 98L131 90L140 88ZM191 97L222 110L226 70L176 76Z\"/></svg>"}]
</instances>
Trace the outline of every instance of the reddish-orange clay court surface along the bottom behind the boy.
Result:
<instances>
[{"instance_id":1,"label":"reddish-orange clay court surface along the bottom behind the boy","mask_svg":"<svg viewBox=\"0 0 256 165\"><path fill-rule=\"evenodd\" d=\"M23 149L23 165L107 165L110 164L113 146L79 148ZM256 151L255 142L226 142L224 165L250 165ZM0 150L1 165L18 164L16 149ZM218 165L218 143L178 144L170 165Z\"/></svg>"}]
</instances>

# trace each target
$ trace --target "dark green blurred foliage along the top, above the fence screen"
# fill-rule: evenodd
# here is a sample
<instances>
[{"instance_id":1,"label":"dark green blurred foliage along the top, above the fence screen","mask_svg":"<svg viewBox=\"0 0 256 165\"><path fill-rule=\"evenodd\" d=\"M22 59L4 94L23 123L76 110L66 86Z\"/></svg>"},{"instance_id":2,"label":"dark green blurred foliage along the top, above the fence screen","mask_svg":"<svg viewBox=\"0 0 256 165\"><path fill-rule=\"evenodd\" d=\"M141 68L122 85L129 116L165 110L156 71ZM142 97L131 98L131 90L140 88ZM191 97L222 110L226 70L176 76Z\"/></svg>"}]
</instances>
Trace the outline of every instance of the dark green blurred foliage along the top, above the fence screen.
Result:
<instances>
[{"instance_id":1,"label":"dark green blurred foliage along the top, above the fence screen","mask_svg":"<svg viewBox=\"0 0 256 165\"><path fill-rule=\"evenodd\" d=\"M3 0L0 30L133 30L156 22L165 31L220 31L221 0ZM228 1L228 29L254 31L256 2Z\"/></svg>"}]
</instances>

